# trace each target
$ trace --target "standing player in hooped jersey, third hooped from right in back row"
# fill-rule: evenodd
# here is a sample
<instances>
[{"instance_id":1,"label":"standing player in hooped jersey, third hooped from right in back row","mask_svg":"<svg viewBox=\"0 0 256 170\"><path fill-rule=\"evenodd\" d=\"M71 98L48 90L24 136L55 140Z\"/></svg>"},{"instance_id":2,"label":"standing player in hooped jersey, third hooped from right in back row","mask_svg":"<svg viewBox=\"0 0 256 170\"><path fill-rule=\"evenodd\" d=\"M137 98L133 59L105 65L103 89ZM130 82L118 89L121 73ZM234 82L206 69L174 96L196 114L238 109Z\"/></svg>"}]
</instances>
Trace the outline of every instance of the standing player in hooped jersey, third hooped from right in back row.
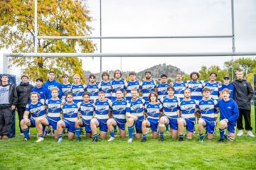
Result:
<instances>
[{"instance_id":1,"label":"standing player in hooped jersey, third hooped from right in back row","mask_svg":"<svg viewBox=\"0 0 256 170\"><path fill-rule=\"evenodd\" d=\"M182 101L184 97L184 90L188 88L188 84L186 83L186 81L182 81L181 73L178 73L176 75L176 81L172 84L172 86L175 89L174 96L178 97L180 101Z\"/></svg>"}]
</instances>

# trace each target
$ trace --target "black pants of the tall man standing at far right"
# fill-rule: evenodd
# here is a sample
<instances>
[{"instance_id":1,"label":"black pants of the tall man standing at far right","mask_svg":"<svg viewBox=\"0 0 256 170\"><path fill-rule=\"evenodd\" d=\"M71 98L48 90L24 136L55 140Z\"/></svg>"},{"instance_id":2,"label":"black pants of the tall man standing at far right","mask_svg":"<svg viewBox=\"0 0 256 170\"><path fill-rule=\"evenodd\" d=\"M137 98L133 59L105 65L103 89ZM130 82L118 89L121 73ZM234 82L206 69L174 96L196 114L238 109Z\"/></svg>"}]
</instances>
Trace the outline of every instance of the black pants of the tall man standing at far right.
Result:
<instances>
[{"instance_id":1,"label":"black pants of the tall man standing at far right","mask_svg":"<svg viewBox=\"0 0 256 170\"><path fill-rule=\"evenodd\" d=\"M245 118L245 130L252 130L250 125L250 110L239 108L239 118L237 120L238 130L243 130L242 127L242 116Z\"/></svg>"}]
</instances>

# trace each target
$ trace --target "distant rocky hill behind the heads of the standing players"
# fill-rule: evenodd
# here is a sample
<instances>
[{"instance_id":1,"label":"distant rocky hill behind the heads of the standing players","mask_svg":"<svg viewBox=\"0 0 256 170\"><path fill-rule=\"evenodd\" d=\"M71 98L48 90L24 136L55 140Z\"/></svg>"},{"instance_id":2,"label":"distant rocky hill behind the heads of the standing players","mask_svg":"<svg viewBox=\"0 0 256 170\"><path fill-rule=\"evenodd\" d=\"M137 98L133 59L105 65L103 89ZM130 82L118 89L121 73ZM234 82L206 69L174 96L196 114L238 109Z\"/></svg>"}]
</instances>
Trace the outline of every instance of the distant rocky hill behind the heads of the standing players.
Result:
<instances>
[{"instance_id":1,"label":"distant rocky hill behind the heads of the standing players","mask_svg":"<svg viewBox=\"0 0 256 170\"><path fill-rule=\"evenodd\" d=\"M144 69L141 72L138 72L137 79L142 79L146 71L150 71L152 73L153 79L159 79L161 77L161 74L166 74L169 79L175 79L176 74L178 72L181 72L181 69L172 65L166 65L165 63L158 64L148 69ZM110 78L113 78L114 70L107 70L107 72L110 74ZM181 72L181 73L184 73L184 72ZM90 71L85 71L86 80L88 80L88 77L90 74L93 74L93 73ZM122 72L122 77L125 78L127 77L128 74L129 72ZM100 81L100 73L95 73L95 76L97 81Z\"/></svg>"}]
</instances>

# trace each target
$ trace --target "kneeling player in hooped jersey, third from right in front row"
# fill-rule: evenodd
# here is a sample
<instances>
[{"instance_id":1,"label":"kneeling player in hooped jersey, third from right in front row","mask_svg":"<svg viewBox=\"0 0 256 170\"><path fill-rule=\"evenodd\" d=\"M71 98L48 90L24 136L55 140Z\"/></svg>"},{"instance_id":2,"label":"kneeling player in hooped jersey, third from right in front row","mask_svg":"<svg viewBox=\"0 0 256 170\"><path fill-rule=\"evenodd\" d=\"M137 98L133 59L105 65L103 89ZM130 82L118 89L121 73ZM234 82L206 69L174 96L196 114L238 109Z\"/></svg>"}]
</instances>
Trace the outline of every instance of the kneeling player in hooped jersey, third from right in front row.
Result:
<instances>
[{"instance_id":1,"label":"kneeling player in hooped jersey, third from right in front row","mask_svg":"<svg viewBox=\"0 0 256 170\"><path fill-rule=\"evenodd\" d=\"M183 101L179 104L180 117L178 118L178 140L183 141L183 129L186 126L187 139L193 138L195 126L196 101L191 99L191 89L184 90Z\"/></svg>"}]
</instances>

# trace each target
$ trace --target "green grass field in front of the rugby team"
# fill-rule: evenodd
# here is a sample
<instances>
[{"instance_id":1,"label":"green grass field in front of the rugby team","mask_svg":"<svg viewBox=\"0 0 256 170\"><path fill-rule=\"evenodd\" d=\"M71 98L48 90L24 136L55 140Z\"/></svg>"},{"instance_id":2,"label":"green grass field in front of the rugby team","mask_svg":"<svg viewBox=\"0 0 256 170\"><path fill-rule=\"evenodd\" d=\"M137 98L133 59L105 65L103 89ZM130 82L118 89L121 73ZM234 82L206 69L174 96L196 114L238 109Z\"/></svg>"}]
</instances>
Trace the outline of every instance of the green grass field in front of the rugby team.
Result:
<instances>
[{"instance_id":1,"label":"green grass field in front of the rugby team","mask_svg":"<svg viewBox=\"0 0 256 170\"><path fill-rule=\"evenodd\" d=\"M252 125L255 127L254 109ZM18 124L16 128L18 132ZM146 143L119 137L113 142L100 140L92 144L64 137L59 144L53 137L36 143L36 131L31 140L23 137L0 140L0 169L256 169L256 137L236 137L234 142L217 143L214 140L200 143L198 133L193 140L171 140L168 132L165 141L148 137Z\"/></svg>"}]
</instances>

